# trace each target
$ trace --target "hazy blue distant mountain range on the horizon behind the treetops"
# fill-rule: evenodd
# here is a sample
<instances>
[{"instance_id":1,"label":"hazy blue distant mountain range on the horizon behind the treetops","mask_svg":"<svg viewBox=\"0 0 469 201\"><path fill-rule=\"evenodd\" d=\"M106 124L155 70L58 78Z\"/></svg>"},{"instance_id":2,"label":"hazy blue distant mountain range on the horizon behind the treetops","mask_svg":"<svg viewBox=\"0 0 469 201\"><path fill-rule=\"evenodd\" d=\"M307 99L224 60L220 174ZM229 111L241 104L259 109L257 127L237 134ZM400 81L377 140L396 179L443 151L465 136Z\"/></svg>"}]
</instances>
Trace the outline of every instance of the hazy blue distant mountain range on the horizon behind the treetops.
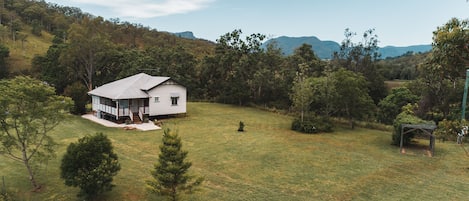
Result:
<instances>
[{"instance_id":1,"label":"hazy blue distant mountain range on the horizon behind the treetops","mask_svg":"<svg viewBox=\"0 0 469 201\"><path fill-rule=\"evenodd\" d=\"M198 39L194 36L194 33L190 31L172 33L181 38ZM266 48L268 44L276 42L277 46L282 49L283 54L291 55L296 48L300 47L304 43L310 44L313 47L314 53L321 59L330 59L332 54L340 50L340 44L335 41L322 41L315 36L305 37L288 37L281 36L278 38L272 38L267 40L262 47ZM424 53L432 49L431 45L412 45L406 47L386 46L379 48L381 58L397 57L407 52Z\"/></svg>"}]
</instances>

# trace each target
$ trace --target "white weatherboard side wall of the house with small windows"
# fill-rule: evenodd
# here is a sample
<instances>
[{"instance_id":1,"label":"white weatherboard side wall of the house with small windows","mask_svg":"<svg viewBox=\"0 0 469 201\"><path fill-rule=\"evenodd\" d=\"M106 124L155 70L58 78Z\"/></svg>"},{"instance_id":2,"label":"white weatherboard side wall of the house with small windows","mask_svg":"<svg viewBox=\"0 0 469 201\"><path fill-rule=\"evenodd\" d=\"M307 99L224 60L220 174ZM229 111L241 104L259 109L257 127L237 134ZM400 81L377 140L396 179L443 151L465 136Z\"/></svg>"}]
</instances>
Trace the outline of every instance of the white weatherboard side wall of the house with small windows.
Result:
<instances>
[{"instance_id":1,"label":"white weatherboard side wall of the house with small windows","mask_svg":"<svg viewBox=\"0 0 469 201\"><path fill-rule=\"evenodd\" d=\"M150 90L148 95L150 116L186 113L187 93L181 85L167 82ZM179 96L177 105L172 105L172 96ZM158 102L155 102L155 97L158 97Z\"/></svg>"}]
</instances>

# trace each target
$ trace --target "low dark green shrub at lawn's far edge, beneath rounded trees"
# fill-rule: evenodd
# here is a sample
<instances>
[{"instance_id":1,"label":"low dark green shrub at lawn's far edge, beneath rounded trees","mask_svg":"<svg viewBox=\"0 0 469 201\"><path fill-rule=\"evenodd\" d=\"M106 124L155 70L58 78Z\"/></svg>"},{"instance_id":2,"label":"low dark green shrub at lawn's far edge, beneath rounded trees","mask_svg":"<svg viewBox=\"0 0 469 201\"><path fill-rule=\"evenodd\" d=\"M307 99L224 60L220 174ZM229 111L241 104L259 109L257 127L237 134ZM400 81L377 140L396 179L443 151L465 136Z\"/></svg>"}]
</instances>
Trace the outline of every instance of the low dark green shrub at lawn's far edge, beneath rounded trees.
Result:
<instances>
[{"instance_id":1,"label":"low dark green shrub at lawn's far edge, beneath rounded trees","mask_svg":"<svg viewBox=\"0 0 469 201\"><path fill-rule=\"evenodd\" d=\"M303 118L303 121L295 118L292 122L292 130L302 133L332 132L332 123L327 117L308 115Z\"/></svg>"}]
</instances>

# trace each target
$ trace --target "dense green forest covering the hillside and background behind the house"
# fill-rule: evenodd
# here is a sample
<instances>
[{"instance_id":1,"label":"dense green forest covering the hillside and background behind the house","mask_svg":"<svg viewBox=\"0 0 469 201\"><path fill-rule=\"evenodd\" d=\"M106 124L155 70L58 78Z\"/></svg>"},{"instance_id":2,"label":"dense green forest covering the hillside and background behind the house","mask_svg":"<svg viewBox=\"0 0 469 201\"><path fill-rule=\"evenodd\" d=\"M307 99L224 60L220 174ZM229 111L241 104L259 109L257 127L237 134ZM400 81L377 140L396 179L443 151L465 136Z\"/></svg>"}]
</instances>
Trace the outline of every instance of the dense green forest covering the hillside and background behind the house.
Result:
<instances>
[{"instance_id":1,"label":"dense green forest covering the hillside and background behind the house","mask_svg":"<svg viewBox=\"0 0 469 201\"><path fill-rule=\"evenodd\" d=\"M265 35L233 30L216 42L185 39L141 24L103 19L45 1L2 0L0 78L29 75L55 87L84 113L86 92L139 72L170 76L190 100L255 105L307 116L391 124L407 103L420 118L456 119L469 61L467 20L449 19L434 32L433 50L380 59L375 30L361 42L346 29L330 60L304 44L285 56ZM19 67L9 47L47 38L44 53ZM27 58L25 58L27 60ZM23 69L21 71L13 69ZM386 80L410 80L390 90Z\"/></svg>"}]
</instances>

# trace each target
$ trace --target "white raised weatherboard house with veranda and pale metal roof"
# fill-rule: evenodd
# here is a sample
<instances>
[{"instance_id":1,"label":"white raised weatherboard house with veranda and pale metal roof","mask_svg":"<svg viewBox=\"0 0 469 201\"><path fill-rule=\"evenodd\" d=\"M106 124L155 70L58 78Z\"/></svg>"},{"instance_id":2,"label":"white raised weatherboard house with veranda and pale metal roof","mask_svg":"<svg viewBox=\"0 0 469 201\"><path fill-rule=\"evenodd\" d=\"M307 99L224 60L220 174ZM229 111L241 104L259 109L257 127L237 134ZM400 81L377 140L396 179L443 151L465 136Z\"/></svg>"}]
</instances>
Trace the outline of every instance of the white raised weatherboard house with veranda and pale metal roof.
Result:
<instances>
[{"instance_id":1,"label":"white raised weatherboard house with veranda and pale metal roof","mask_svg":"<svg viewBox=\"0 0 469 201\"><path fill-rule=\"evenodd\" d=\"M139 122L145 116L186 113L186 87L170 77L140 73L104 84L88 94L98 118Z\"/></svg>"}]
</instances>

